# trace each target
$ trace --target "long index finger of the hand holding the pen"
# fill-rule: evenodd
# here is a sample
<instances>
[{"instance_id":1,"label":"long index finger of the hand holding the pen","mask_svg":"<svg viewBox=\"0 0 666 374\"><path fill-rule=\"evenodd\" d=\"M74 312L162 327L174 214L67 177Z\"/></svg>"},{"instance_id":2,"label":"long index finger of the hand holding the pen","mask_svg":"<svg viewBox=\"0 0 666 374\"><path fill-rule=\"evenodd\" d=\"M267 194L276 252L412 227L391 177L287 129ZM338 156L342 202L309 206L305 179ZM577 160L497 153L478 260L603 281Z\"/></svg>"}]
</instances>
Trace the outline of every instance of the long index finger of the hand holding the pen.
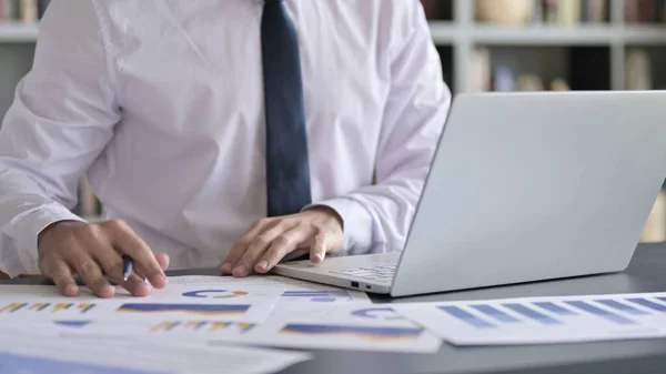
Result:
<instances>
[{"instance_id":1,"label":"long index finger of the hand holding the pen","mask_svg":"<svg viewBox=\"0 0 666 374\"><path fill-rule=\"evenodd\" d=\"M132 257L137 270L141 271L155 289L164 287L167 275L148 244L122 223L114 223L113 229L112 240L114 246L121 253Z\"/></svg>"}]
</instances>

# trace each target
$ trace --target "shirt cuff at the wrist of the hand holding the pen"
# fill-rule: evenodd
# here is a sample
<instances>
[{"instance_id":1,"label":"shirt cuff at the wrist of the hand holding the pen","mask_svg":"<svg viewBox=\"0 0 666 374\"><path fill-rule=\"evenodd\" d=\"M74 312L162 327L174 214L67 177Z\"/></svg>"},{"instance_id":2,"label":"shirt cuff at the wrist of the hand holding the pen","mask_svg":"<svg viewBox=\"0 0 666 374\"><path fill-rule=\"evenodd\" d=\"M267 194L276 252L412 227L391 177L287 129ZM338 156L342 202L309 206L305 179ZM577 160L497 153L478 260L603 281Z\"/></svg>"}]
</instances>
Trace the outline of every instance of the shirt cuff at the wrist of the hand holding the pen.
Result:
<instances>
[{"instance_id":1,"label":"shirt cuff at the wrist of the hand holding the pen","mask_svg":"<svg viewBox=\"0 0 666 374\"><path fill-rule=\"evenodd\" d=\"M17 240L17 252L28 274L40 274L37 240L47 226L60 221L79 221L83 219L60 204L49 204L19 216L12 224Z\"/></svg>"}]
</instances>

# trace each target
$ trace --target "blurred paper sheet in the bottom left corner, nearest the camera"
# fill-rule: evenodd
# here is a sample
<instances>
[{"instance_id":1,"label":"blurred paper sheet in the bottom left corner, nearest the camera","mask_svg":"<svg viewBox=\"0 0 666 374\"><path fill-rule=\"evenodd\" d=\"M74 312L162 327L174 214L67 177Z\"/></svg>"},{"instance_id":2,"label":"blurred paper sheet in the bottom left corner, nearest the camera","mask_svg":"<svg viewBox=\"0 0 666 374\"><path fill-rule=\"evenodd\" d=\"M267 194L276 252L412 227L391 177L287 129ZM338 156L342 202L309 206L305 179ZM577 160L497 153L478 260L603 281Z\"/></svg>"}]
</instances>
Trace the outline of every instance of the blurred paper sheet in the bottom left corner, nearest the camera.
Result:
<instances>
[{"instance_id":1,"label":"blurred paper sheet in the bottom left corner, nearest the camera","mask_svg":"<svg viewBox=\"0 0 666 374\"><path fill-rule=\"evenodd\" d=\"M264 374L311 357L250 347L191 347L0 331L0 372L30 374Z\"/></svg>"}]
</instances>

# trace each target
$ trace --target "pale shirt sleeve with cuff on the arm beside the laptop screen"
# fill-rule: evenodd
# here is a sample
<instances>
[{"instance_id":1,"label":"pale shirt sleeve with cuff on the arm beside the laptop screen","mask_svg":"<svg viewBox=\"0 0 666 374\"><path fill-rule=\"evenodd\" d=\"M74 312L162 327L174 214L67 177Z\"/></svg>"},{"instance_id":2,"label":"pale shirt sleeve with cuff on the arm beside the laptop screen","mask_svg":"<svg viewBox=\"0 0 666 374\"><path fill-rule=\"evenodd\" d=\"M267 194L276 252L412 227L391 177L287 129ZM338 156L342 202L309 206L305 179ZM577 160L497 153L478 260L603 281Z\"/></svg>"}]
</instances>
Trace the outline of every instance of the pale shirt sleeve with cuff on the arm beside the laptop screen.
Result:
<instances>
[{"instance_id":1,"label":"pale shirt sleeve with cuff on the arm beside the laptop screen","mask_svg":"<svg viewBox=\"0 0 666 374\"><path fill-rule=\"evenodd\" d=\"M405 1L404 38L389 51L392 87L375 183L319 204L344 222L344 254L401 251L451 105L442 62L418 1Z\"/></svg>"}]
</instances>

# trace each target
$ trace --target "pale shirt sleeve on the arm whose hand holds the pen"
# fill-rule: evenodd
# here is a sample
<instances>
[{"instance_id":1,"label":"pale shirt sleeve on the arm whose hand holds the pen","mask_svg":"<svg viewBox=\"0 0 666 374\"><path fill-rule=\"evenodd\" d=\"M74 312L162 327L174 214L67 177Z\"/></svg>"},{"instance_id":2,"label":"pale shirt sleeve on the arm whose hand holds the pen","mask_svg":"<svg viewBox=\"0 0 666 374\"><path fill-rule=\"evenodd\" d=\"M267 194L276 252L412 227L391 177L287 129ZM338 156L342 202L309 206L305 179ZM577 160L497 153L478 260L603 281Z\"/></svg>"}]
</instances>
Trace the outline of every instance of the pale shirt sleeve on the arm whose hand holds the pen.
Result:
<instances>
[{"instance_id":1,"label":"pale shirt sleeve on the arm whose hand holds the pen","mask_svg":"<svg viewBox=\"0 0 666 374\"><path fill-rule=\"evenodd\" d=\"M53 0L31 71L0 128L0 271L39 274L38 234L82 219L80 178L119 120L112 62L95 0Z\"/></svg>"}]
</instances>

